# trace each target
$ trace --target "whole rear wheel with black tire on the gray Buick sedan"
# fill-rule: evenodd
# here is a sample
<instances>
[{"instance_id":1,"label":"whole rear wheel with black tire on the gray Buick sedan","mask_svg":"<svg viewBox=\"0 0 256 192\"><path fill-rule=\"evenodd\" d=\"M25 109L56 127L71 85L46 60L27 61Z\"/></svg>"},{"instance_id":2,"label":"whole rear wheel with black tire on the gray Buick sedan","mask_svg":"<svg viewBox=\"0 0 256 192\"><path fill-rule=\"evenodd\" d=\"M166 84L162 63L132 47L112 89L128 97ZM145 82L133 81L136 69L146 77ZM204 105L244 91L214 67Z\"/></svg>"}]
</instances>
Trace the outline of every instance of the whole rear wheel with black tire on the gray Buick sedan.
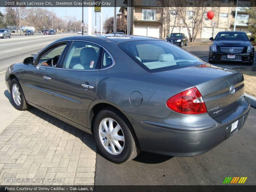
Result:
<instances>
[{"instance_id":1,"label":"whole rear wheel with black tire on the gray Buick sedan","mask_svg":"<svg viewBox=\"0 0 256 192\"><path fill-rule=\"evenodd\" d=\"M112 132L108 133L108 130L106 131L106 128L103 127L104 122L106 123L107 129L109 128L109 123L113 122L114 129ZM117 129L117 127L120 129ZM103 133L101 135L100 129ZM115 129L119 131L114 132ZM100 152L109 161L124 163L139 155L140 147L132 125L118 110L113 108L102 109L95 117L93 130L94 138ZM114 139L117 137L120 140ZM107 144L106 147L104 143Z\"/></svg>"}]
</instances>

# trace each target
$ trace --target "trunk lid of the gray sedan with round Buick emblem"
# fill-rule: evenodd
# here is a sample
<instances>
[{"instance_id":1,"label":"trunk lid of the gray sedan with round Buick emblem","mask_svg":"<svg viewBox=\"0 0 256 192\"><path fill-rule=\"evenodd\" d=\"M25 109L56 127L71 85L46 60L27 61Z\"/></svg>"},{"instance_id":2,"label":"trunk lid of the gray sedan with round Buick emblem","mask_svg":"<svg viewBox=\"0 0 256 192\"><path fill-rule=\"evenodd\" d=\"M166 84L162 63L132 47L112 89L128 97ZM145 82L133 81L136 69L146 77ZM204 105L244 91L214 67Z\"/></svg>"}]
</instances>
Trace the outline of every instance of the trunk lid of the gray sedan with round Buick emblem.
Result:
<instances>
[{"instance_id":1,"label":"trunk lid of the gray sedan with round Buick emblem","mask_svg":"<svg viewBox=\"0 0 256 192\"><path fill-rule=\"evenodd\" d=\"M210 64L164 71L158 74L171 76L175 80L196 86L212 118L235 108L244 94L244 77L241 72Z\"/></svg>"}]
</instances>

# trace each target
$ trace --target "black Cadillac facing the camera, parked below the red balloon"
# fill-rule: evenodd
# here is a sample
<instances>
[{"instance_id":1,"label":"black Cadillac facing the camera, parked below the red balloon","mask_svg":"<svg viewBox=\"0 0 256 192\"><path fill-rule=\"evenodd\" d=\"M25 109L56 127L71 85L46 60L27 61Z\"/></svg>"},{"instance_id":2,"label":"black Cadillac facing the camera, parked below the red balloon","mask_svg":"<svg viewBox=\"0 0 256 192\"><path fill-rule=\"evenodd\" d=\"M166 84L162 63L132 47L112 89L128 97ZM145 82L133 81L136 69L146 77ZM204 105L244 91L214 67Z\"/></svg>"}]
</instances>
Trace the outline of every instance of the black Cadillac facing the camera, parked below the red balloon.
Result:
<instances>
[{"instance_id":1,"label":"black Cadillac facing the camera, parked below the red balloon","mask_svg":"<svg viewBox=\"0 0 256 192\"><path fill-rule=\"evenodd\" d=\"M222 31L210 38L209 63L214 61L244 62L249 65L254 61L254 47L243 31Z\"/></svg>"}]
</instances>

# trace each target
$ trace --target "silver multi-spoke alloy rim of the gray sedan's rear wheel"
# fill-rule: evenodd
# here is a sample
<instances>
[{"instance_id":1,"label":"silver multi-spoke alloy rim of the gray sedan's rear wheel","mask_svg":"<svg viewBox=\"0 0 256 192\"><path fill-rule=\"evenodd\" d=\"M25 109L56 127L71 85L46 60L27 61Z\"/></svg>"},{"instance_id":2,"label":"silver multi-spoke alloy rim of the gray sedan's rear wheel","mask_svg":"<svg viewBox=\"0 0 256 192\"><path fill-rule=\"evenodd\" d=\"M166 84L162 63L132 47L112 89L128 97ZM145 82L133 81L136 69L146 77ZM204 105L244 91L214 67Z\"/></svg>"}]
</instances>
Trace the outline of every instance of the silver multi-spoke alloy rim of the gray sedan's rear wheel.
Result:
<instances>
[{"instance_id":1,"label":"silver multi-spoke alloy rim of the gray sedan's rear wheel","mask_svg":"<svg viewBox=\"0 0 256 192\"><path fill-rule=\"evenodd\" d=\"M99 136L103 147L112 155L120 154L124 149L124 132L112 118L104 118L99 125Z\"/></svg>"}]
</instances>

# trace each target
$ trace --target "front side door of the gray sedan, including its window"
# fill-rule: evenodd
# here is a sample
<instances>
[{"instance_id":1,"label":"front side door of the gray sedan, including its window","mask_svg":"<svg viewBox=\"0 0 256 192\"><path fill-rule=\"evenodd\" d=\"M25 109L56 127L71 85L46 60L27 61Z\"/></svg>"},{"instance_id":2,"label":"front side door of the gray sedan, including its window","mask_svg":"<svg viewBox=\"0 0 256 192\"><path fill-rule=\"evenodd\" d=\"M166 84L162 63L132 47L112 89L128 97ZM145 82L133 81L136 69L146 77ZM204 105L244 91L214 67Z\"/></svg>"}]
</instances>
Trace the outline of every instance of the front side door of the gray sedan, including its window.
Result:
<instances>
[{"instance_id":1,"label":"front side door of the gray sedan, including its window","mask_svg":"<svg viewBox=\"0 0 256 192\"><path fill-rule=\"evenodd\" d=\"M67 41L60 42L44 49L34 58L33 65L26 66L23 75L26 100L53 112L55 111L52 94L53 78L57 70L56 64L67 44Z\"/></svg>"}]
</instances>

